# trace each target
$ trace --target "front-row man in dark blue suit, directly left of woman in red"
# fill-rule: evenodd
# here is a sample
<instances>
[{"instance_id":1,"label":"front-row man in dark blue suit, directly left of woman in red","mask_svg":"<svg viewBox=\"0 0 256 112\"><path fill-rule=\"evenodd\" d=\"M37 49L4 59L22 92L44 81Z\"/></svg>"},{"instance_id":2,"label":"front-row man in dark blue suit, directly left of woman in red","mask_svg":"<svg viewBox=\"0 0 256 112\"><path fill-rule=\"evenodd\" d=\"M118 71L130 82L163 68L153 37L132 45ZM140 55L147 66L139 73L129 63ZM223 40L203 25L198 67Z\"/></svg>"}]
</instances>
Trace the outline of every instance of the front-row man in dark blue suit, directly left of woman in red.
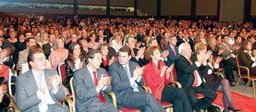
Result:
<instances>
[{"instance_id":1,"label":"front-row man in dark blue suit, directly left of woman in red","mask_svg":"<svg viewBox=\"0 0 256 112\"><path fill-rule=\"evenodd\" d=\"M146 93L141 86L145 84L142 68L137 63L129 61L131 49L127 46L120 48L118 61L113 63L108 73L113 78L111 85L117 96L118 108L139 108L146 112L164 112L162 105Z\"/></svg>"}]
</instances>

